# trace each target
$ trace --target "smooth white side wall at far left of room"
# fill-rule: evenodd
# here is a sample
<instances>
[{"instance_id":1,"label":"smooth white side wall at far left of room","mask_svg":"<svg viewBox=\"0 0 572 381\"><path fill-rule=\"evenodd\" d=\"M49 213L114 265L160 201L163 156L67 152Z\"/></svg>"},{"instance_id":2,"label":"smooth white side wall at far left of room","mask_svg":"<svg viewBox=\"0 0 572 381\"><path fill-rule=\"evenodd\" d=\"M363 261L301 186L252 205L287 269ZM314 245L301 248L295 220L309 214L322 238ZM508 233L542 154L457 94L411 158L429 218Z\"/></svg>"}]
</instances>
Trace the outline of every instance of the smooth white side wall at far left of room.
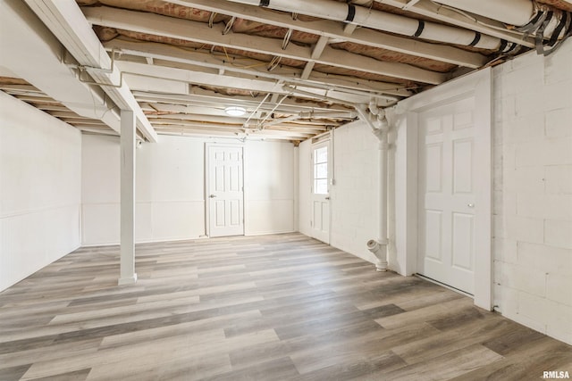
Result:
<instances>
[{"instance_id":1,"label":"smooth white side wall at far left of room","mask_svg":"<svg viewBox=\"0 0 572 381\"><path fill-rule=\"evenodd\" d=\"M0 92L0 290L80 246L80 132Z\"/></svg>"}]
</instances>

